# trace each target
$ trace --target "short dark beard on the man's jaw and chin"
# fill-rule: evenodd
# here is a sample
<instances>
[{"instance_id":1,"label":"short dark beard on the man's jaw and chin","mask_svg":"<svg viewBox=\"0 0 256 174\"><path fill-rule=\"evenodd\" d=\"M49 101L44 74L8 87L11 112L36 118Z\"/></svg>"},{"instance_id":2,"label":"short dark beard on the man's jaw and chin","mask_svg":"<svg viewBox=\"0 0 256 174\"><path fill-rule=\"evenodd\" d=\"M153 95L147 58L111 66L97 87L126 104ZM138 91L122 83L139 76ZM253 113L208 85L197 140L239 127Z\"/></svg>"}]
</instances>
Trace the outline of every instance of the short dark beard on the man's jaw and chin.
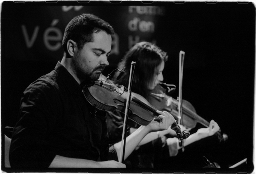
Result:
<instances>
[{"instance_id":1,"label":"short dark beard on the man's jaw and chin","mask_svg":"<svg viewBox=\"0 0 256 174\"><path fill-rule=\"evenodd\" d=\"M77 55L72 58L71 61L71 70L76 74L77 78L79 78L82 81L95 81L99 79L99 76L101 73L96 73L95 70L101 70L103 71L105 66L100 65L91 70L85 69L85 61L81 59L80 55Z\"/></svg>"}]
</instances>

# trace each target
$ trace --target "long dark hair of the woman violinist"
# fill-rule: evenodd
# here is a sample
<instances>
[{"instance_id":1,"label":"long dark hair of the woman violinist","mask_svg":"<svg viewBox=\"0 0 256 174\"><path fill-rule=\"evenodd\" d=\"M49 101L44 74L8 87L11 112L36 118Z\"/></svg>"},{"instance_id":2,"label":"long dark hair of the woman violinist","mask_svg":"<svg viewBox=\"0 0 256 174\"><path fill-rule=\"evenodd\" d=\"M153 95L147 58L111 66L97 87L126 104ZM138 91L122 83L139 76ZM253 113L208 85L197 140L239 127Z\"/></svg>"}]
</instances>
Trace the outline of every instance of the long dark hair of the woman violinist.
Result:
<instances>
[{"instance_id":1,"label":"long dark hair of the woman violinist","mask_svg":"<svg viewBox=\"0 0 256 174\"><path fill-rule=\"evenodd\" d=\"M119 63L118 68L121 70L125 67L125 72L119 80L114 80L114 82L128 88L131 62L135 61L132 92L140 94L147 99L150 92L148 85L155 76L155 69L162 61L167 61L167 59L167 53L153 43L137 43L125 54Z\"/></svg>"}]
</instances>

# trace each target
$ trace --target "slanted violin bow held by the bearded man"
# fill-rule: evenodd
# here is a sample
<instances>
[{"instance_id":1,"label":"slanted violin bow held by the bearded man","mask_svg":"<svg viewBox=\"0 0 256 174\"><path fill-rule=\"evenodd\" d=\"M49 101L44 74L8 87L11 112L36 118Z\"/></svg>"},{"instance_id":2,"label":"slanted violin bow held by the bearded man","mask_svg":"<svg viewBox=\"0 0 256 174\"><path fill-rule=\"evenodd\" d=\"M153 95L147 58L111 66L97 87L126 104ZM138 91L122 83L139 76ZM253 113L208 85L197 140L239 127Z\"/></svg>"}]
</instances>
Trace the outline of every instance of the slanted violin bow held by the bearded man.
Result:
<instances>
[{"instance_id":1,"label":"slanted violin bow held by the bearded man","mask_svg":"<svg viewBox=\"0 0 256 174\"><path fill-rule=\"evenodd\" d=\"M128 110L130 108L130 102L131 102L131 86L133 81L133 74L134 74L134 68L135 68L136 62L132 61L131 63L131 69L130 69L130 76L129 76L129 84L128 84L128 91L127 91L127 99L126 99L126 105L125 105L125 117L123 122L123 134L122 134L122 141L121 141L121 151L119 156L119 162L124 163L125 158L125 143L126 143L126 134L127 134L127 117L128 117Z\"/></svg>"}]
</instances>

